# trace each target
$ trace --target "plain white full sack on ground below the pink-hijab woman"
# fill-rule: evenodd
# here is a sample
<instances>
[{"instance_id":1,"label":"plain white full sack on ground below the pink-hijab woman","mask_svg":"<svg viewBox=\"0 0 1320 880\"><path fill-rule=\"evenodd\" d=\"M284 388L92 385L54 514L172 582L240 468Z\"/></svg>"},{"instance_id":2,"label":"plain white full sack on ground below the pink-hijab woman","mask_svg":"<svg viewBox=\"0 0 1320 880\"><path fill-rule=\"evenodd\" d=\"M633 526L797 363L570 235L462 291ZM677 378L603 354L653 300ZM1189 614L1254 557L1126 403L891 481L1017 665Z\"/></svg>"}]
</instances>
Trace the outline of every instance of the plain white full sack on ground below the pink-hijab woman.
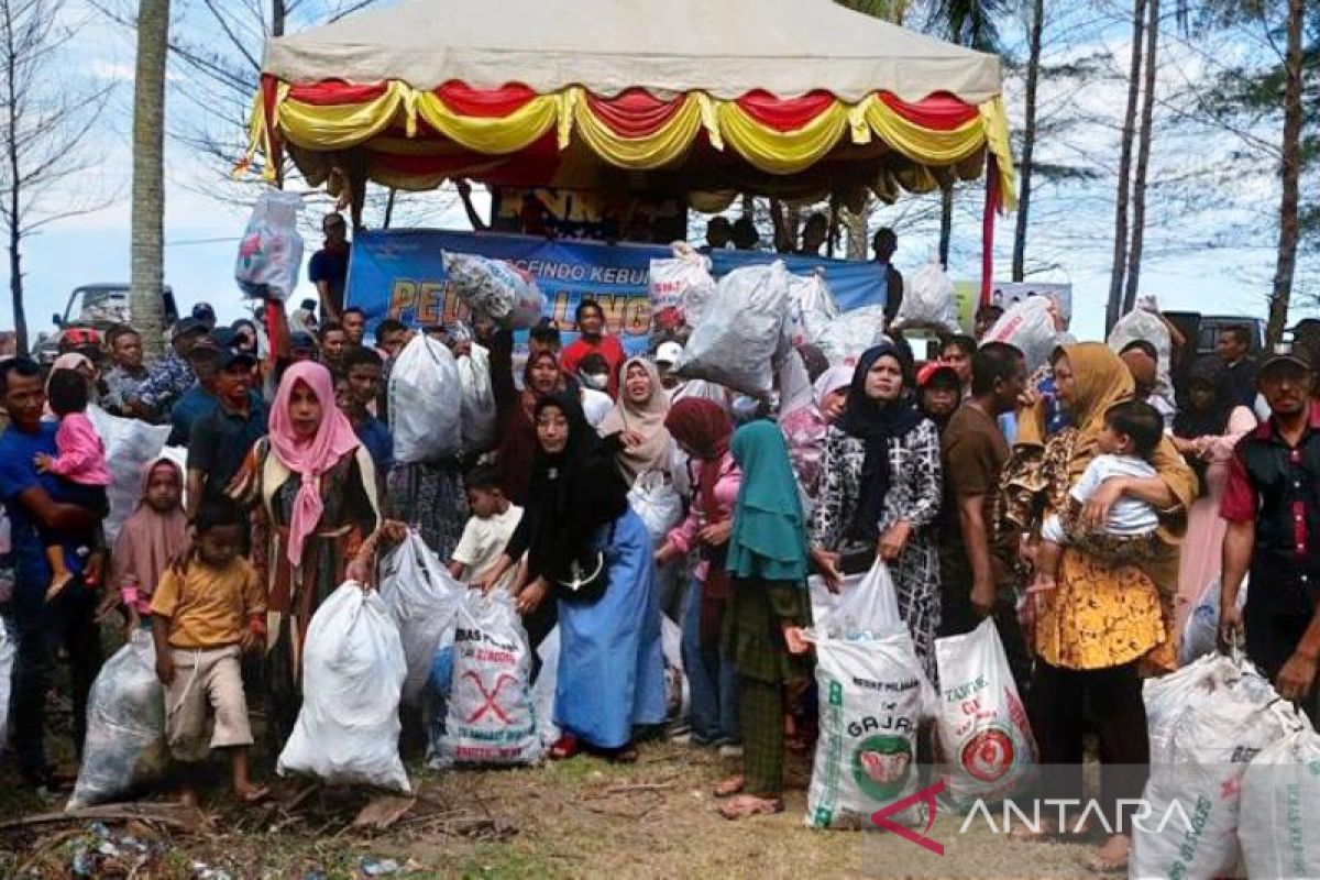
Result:
<instances>
[{"instance_id":1,"label":"plain white full sack on ground below the pink-hijab woman","mask_svg":"<svg viewBox=\"0 0 1320 880\"><path fill-rule=\"evenodd\" d=\"M404 646L376 592L348 581L321 603L302 648L302 708L280 776L409 793L399 757Z\"/></svg>"}]
</instances>

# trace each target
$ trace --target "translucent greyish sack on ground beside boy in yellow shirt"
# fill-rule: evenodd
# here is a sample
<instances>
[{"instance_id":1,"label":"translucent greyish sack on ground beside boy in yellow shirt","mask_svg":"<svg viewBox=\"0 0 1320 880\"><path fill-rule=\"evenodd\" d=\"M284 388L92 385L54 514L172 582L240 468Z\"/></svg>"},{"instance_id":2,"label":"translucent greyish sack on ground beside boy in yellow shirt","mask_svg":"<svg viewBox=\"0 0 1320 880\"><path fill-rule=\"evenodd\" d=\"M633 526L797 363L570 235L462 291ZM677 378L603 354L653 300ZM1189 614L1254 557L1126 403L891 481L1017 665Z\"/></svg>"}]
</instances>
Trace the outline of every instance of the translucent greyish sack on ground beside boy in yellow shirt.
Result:
<instances>
[{"instance_id":1,"label":"translucent greyish sack on ground beside boy in yellow shirt","mask_svg":"<svg viewBox=\"0 0 1320 880\"><path fill-rule=\"evenodd\" d=\"M152 635L140 629L92 682L82 767L65 809L119 800L161 778L169 763L165 689L156 678Z\"/></svg>"}]
</instances>

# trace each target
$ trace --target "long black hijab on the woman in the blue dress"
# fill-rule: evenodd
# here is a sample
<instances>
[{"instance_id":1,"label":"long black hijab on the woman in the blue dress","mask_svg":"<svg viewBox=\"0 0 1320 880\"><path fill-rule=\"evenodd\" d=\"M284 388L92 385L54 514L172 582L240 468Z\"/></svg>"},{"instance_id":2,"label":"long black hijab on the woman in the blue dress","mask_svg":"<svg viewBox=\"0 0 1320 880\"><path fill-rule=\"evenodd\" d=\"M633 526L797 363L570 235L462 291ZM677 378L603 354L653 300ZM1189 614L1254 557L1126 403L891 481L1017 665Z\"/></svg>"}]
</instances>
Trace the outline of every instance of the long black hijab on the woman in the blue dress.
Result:
<instances>
[{"instance_id":1,"label":"long black hijab on the woman in the blue dress","mask_svg":"<svg viewBox=\"0 0 1320 880\"><path fill-rule=\"evenodd\" d=\"M552 408L568 420L569 437L564 450L554 454L536 443L527 513L532 528L528 571L548 578L586 555L595 530L628 509L628 487L601 435L587 424L577 394L564 392L539 400L533 426Z\"/></svg>"}]
</instances>

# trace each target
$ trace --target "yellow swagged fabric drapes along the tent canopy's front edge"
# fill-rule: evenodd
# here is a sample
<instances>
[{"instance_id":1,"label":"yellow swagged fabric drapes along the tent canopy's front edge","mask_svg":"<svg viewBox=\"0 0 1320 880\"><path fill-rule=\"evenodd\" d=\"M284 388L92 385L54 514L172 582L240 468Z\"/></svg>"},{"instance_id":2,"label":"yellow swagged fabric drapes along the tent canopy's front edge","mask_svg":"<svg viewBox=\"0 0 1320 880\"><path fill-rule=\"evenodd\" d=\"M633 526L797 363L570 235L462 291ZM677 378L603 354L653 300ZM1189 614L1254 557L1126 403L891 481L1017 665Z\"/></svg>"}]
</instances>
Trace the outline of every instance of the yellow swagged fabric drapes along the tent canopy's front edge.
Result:
<instances>
[{"instance_id":1,"label":"yellow swagged fabric drapes along the tent canopy's front edge","mask_svg":"<svg viewBox=\"0 0 1320 880\"><path fill-rule=\"evenodd\" d=\"M620 137L591 112L581 87L539 95L507 116L478 117L455 113L436 94L416 91L401 82L391 82L380 96L356 104L302 103L289 98L288 83L280 83L275 128L269 131L261 94L256 95L246 157L235 173L248 168L257 150L269 156L276 133L305 150L334 152L372 141L372 146L391 153L442 153L424 140L413 140L420 117L449 142L484 156L517 153L554 131L561 150L568 149L577 135L606 162L639 170L681 161L702 131L715 149L731 148L756 169L779 175L810 168L845 137L853 144L879 139L915 164L882 172L874 185L882 198L896 195L895 186L911 191L933 189L936 179L931 169L964 166L958 174L966 177L966 164L977 161L979 150L989 149L998 160L1005 207L1016 206L1008 120L998 96L979 104L975 119L944 132L904 119L874 94L857 104L836 100L804 127L788 132L758 123L737 102L717 100L704 92L689 92L680 100L682 106L660 131L644 137ZM401 125L404 137L385 136L391 125ZM381 140L383 136L388 141ZM268 168L267 177L271 175L273 169ZM425 177L430 182L433 175Z\"/></svg>"}]
</instances>

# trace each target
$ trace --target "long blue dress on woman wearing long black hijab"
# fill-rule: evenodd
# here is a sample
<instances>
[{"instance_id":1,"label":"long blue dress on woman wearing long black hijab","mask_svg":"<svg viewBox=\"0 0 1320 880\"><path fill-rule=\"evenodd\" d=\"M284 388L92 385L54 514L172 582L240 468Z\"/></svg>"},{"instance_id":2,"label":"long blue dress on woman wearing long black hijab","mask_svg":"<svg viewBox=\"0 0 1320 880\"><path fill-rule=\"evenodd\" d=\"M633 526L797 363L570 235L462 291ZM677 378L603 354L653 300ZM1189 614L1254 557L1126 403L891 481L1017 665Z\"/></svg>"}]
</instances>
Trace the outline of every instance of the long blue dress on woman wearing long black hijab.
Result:
<instances>
[{"instance_id":1,"label":"long blue dress on woman wearing long black hijab","mask_svg":"<svg viewBox=\"0 0 1320 880\"><path fill-rule=\"evenodd\" d=\"M620 748L636 724L665 718L660 608L647 526L631 509L601 528L609 586L594 604L558 603L554 723L597 748Z\"/></svg>"}]
</instances>

